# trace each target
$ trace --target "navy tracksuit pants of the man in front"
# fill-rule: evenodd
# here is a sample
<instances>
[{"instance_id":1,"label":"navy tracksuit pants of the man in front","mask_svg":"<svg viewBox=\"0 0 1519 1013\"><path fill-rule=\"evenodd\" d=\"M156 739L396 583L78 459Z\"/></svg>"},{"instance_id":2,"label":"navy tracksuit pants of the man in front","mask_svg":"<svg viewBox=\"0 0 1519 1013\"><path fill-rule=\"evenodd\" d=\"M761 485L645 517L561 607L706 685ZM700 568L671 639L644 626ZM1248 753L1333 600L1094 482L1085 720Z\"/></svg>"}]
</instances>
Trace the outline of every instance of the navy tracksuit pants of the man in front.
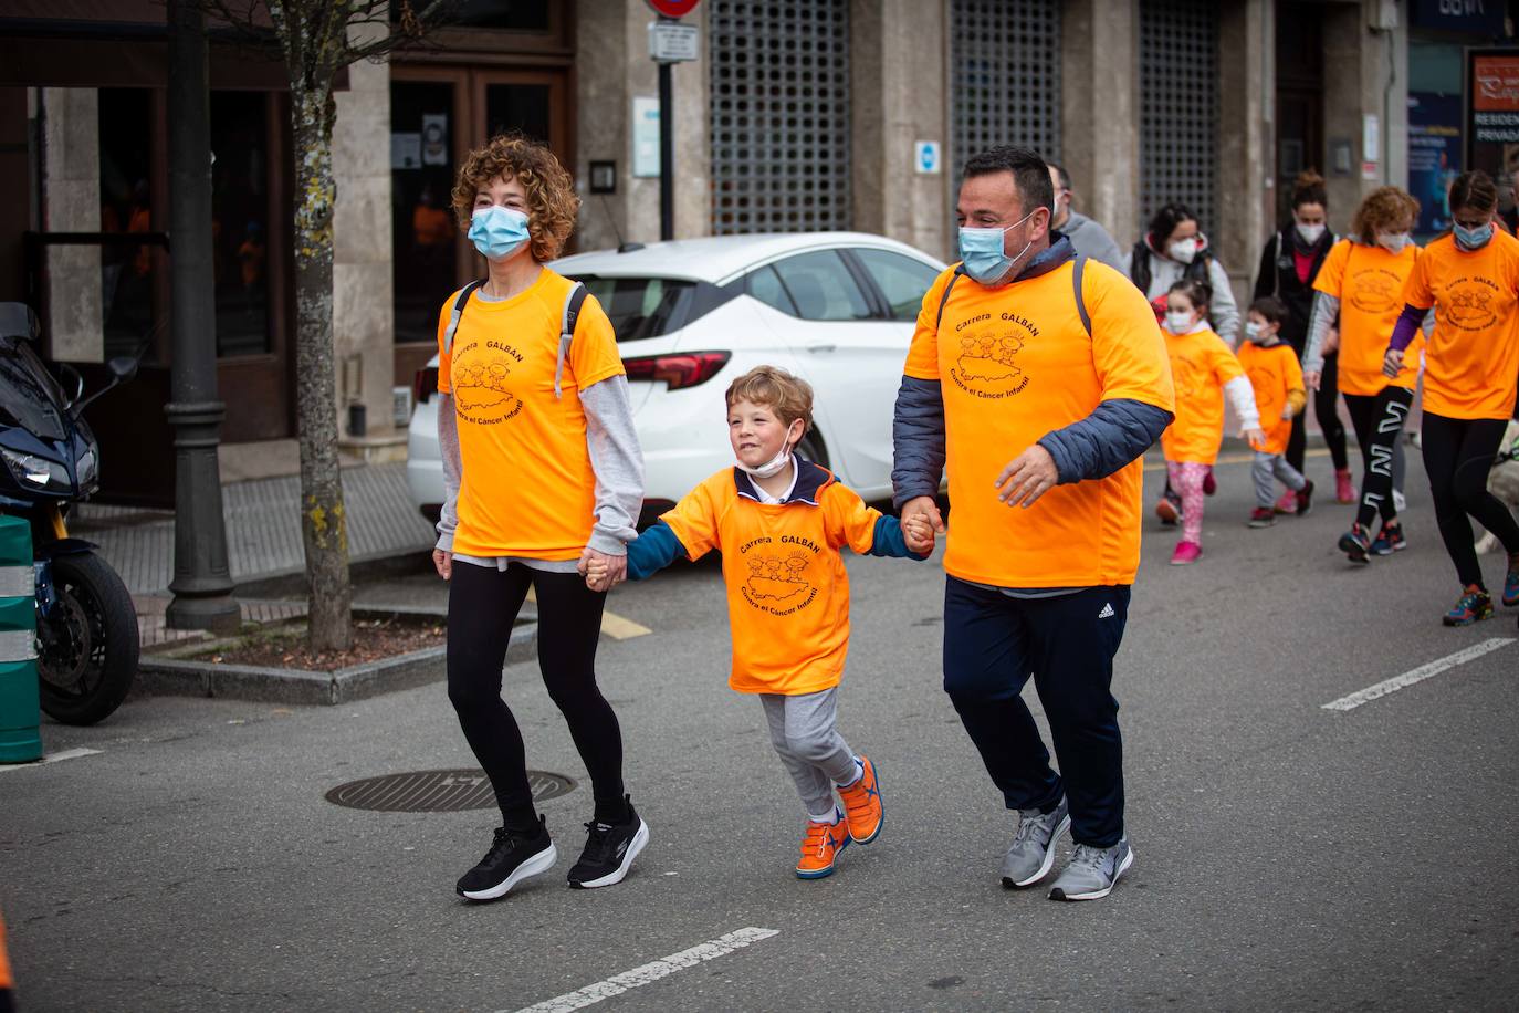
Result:
<instances>
[{"instance_id":1,"label":"navy tracksuit pants of the man in front","mask_svg":"<svg viewBox=\"0 0 1519 1013\"><path fill-rule=\"evenodd\" d=\"M1110 691L1129 586L1015 598L955 577L945 586L945 693L1010 809L1048 813L1065 793L1071 837L1124 834L1123 737ZM1033 676L1060 773L1019 696Z\"/></svg>"}]
</instances>

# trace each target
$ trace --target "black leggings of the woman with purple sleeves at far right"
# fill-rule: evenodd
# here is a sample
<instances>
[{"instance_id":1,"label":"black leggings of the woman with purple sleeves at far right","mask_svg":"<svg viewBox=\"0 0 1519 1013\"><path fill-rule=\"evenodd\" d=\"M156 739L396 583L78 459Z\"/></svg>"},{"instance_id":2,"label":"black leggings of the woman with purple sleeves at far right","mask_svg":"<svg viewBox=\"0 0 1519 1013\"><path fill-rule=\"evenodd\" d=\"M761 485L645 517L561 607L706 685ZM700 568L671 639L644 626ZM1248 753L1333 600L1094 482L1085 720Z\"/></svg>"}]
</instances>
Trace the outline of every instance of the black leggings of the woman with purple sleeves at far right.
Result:
<instances>
[{"instance_id":1,"label":"black leggings of the woman with purple sleeves at far right","mask_svg":"<svg viewBox=\"0 0 1519 1013\"><path fill-rule=\"evenodd\" d=\"M1467 515L1496 535L1508 553L1519 553L1519 522L1502 500L1487 491L1487 474L1505 428L1505 419L1448 419L1425 412L1425 471L1434 494L1434 515L1461 586L1486 586Z\"/></svg>"}]
</instances>

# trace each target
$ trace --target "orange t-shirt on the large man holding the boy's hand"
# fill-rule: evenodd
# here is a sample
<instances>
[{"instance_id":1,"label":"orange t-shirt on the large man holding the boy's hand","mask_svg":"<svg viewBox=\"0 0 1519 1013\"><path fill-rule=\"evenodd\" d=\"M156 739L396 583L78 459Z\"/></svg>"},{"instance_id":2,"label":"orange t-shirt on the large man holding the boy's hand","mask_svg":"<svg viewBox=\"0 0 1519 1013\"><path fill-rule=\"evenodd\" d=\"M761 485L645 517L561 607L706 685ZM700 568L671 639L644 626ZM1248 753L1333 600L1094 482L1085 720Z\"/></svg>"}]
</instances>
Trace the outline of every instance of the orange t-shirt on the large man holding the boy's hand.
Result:
<instances>
[{"instance_id":1,"label":"orange t-shirt on the large man holding the boy's hand","mask_svg":"<svg viewBox=\"0 0 1519 1013\"><path fill-rule=\"evenodd\" d=\"M1007 462L1103 401L1127 398L1173 410L1165 340L1144 293L1088 261L1082 293L1072 266L987 289L955 281L936 328L945 270L924 296L905 372L936 380L945 404L949 498L945 570L1000 588L1132 583L1139 568L1141 462L1106 478L1050 489L1028 509L996 498ZM942 333L940 333L942 331Z\"/></svg>"}]
</instances>

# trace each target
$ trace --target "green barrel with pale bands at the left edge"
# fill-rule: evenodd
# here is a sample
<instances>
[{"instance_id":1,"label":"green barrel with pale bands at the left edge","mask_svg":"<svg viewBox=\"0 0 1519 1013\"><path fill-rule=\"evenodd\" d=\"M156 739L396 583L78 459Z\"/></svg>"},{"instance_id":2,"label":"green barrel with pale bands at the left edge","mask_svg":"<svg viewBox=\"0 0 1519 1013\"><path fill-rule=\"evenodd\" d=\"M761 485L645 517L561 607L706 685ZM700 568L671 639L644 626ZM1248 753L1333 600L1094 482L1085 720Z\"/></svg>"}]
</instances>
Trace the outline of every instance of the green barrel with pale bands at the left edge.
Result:
<instances>
[{"instance_id":1,"label":"green barrel with pale bands at the left edge","mask_svg":"<svg viewBox=\"0 0 1519 1013\"><path fill-rule=\"evenodd\" d=\"M32 525L0 516L0 764L43 758Z\"/></svg>"}]
</instances>

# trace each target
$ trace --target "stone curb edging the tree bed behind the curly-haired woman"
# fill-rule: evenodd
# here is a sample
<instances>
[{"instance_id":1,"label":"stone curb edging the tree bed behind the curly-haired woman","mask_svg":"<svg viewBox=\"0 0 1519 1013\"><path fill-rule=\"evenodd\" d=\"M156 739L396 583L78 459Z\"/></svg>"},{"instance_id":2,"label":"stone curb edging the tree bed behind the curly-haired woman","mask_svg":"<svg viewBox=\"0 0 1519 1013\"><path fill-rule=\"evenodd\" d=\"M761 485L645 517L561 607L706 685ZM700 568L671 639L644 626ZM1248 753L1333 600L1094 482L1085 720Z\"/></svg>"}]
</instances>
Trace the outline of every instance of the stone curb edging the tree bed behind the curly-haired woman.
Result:
<instances>
[{"instance_id":1,"label":"stone curb edging the tree bed behind the curly-haired woman","mask_svg":"<svg viewBox=\"0 0 1519 1013\"><path fill-rule=\"evenodd\" d=\"M506 664L529 661L535 656L538 623L523 623L513 627L506 650ZM447 679L447 658L448 647L439 645L337 671L308 671L258 665L214 665L207 661L179 661L144 655L137 668L135 691L146 696L333 706L442 682Z\"/></svg>"}]
</instances>

